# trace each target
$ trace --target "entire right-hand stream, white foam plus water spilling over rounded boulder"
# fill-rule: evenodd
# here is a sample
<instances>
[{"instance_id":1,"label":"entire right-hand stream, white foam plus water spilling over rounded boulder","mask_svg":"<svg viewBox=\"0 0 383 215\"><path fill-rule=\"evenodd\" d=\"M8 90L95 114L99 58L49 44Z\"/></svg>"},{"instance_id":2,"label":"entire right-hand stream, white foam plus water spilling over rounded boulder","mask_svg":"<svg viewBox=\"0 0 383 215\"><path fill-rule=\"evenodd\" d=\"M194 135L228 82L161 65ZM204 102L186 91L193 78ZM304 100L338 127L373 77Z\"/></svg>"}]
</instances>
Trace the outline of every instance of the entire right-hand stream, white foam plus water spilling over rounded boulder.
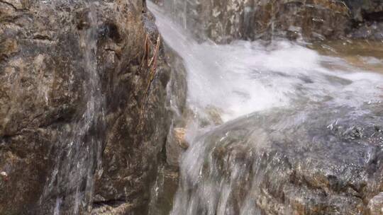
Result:
<instances>
[{"instance_id":1,"label":"entire right-hand stream, white foam plus water spilling over rounded boulder","mask_svg":"<svg viewBox=\"0 0 383 215\"><path fill-rule=\"evenodd\" d=\"M382 192L382 74L286 40L200 44L148 6L194 112L170 214L367 211Z\"/></svg>"}]
</instances>

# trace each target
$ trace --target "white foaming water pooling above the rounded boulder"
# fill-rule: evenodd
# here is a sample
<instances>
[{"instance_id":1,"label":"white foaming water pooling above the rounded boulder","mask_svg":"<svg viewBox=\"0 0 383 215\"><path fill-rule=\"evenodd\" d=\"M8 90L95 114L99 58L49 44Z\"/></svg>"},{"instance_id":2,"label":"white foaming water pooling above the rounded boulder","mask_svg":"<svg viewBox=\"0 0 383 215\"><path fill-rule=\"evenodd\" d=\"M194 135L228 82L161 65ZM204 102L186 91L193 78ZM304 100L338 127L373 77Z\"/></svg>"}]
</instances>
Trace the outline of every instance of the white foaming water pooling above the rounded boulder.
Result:
<instances>
[{"instance_id":1,"label":"white foaming water pooling above the rounded boulder","mask_svg":"<svg viewBox=\"0 0 383 215\"><path fill-rule=\"evenodd\" d=\"M259 110L328 97L334 103L355 106L379 99L382 75L357 71L342 59L288 41L199 44L160 8L150 2L148 7L165 42L184 59L188 103L196 112L218 108L226 122Z\"/></svg>"}]
</instances>

